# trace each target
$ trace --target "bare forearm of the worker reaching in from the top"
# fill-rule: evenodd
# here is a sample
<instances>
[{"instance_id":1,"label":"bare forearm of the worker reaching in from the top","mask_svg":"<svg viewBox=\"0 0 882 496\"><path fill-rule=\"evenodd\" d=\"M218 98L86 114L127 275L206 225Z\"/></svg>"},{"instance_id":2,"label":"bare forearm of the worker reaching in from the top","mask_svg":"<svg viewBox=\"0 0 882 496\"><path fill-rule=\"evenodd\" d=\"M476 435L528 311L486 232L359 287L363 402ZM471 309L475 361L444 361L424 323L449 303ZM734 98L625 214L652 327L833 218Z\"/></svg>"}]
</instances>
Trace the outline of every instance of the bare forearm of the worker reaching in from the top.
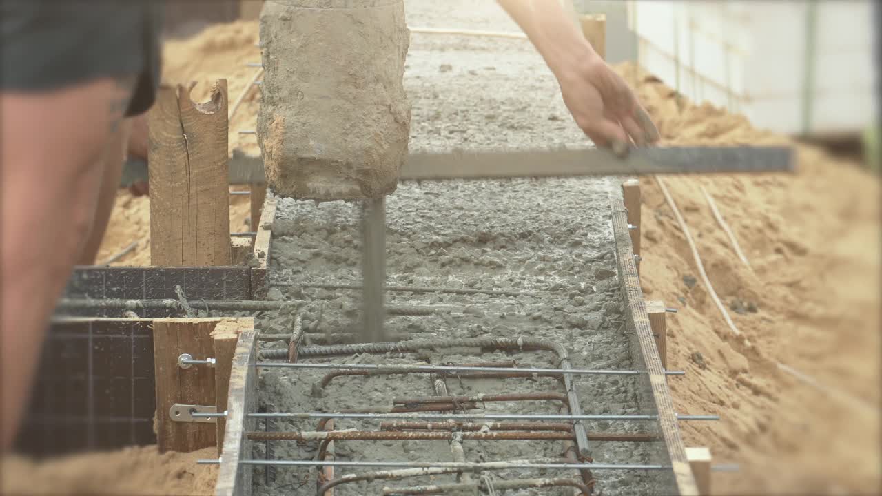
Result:
<instances>
[{"instance_id":1,"label":"bare forearm of the worker reaching in from the top","mask_svg":"<svg viewBox=\"0 0 882 496\"><path fill-rule=\"evenodd\" d=\"M597 57L557 0L497 0L533 42L560 79L565 71Z\"/></svg>"}]
</instances>

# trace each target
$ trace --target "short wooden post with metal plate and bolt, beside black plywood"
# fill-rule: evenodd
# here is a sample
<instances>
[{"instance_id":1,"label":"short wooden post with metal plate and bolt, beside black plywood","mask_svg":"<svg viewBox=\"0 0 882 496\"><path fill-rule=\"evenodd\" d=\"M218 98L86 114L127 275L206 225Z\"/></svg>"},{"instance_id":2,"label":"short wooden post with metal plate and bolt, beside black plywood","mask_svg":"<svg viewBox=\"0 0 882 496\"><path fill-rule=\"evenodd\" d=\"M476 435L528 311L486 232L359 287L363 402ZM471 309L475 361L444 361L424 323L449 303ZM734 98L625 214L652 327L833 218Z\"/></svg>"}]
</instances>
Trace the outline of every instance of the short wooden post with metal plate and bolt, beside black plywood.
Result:
<instances>
[{"instance_id":1,"label":"short wooden post with metal plate and bolt, beside black plywood","mask_svg":"<svg viewBox=\"0 0 882 496\"><path fill-rule=\"evenodd\" d=\"M153 320L153 361L156 373L156 440L160 453L189 453L217 443L216 427L198 422L174 422L168 416L172 405L214 405L214 369L192 365L182 369L182 353L204 360L214 354L211 337L218 319Z\"/></svg>"}]
</instances>

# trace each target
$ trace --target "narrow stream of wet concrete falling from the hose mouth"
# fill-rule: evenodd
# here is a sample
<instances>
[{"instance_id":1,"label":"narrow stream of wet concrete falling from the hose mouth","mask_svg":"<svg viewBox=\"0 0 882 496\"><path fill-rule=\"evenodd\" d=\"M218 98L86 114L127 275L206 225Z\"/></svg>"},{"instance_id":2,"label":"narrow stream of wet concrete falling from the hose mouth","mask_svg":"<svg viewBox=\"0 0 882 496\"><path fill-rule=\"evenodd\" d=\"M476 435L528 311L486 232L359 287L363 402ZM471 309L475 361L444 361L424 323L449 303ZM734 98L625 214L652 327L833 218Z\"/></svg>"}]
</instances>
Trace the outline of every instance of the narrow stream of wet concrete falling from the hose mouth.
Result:
<instances>
[{"instance_id":1,"label":"narrow stream of wet concrete falling from the hose mouth","mask_svg":"<svg viewBox=\"0 0 882 496\"><path fill-rule=\"evenodd\" d=\"M385 341L385 197L362 204L363 342Z\"/></svg>"}]
</instances>

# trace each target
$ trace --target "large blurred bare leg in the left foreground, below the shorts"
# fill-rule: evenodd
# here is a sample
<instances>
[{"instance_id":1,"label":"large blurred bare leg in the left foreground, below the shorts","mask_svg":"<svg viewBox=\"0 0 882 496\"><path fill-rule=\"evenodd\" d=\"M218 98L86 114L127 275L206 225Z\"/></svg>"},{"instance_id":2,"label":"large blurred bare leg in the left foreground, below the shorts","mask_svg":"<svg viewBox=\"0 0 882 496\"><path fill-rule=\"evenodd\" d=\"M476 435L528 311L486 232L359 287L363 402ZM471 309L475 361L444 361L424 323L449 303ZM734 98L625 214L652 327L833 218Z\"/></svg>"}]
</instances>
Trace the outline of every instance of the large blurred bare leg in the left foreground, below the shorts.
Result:
<instances>
[{"instance_id":1,"label":"large blurred bare leg in the left foreground, below the shorts","mask_svg":"<svg viewBox=\"0 0 882 496\"><path fill-rule=\"evenodd\" d=\"M49 315L92 229L132 80L0 92L0 449L14 439Z\"/></svg>"}]
</instances>

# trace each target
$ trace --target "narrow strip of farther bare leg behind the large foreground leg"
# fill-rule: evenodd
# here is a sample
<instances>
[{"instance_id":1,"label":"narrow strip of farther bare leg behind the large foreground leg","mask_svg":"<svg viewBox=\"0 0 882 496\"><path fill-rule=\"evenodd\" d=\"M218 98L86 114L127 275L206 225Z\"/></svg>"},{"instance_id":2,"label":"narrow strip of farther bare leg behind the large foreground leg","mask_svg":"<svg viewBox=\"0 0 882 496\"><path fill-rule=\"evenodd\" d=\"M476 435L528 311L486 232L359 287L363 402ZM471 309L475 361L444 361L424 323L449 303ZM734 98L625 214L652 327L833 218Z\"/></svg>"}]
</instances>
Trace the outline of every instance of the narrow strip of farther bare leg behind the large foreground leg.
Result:
<instances>
[{"instance_id":1,"label":"narrow strip of farther bare leg behind the large foreground leg","mask_svg":"<svg viewBox=\"0 0 882 496\"><path fill-rule=\"evenodd\" d=\"M104 169L101 177L101 192L98 196L98 207L95 210L95 218L92 224L92 233L79 256L78 265L94 265L97 263L98 250L101 248L101 240L104 232L108 229L110 214L116 203L116 192L119 190L119 180L123 176L123 162L125 161L126 147L129 140L131 119L126 119L120 126L101 156L100 166Z\"/></svg>"}]
</instances>

